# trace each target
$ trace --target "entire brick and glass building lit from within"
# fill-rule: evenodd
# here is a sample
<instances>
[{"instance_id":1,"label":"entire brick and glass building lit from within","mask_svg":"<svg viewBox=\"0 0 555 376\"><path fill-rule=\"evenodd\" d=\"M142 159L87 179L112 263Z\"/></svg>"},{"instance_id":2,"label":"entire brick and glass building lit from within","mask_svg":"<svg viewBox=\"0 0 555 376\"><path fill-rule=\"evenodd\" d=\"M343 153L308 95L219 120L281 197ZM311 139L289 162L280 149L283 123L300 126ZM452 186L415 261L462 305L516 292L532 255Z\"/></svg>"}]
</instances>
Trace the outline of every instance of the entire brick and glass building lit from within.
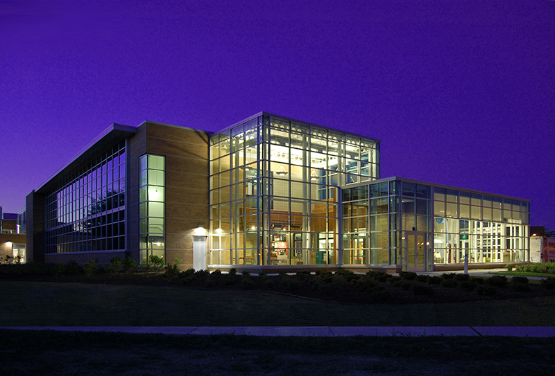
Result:
<instances>
[{"instance_id":1,"label":"entire brick and glass building lit from within","mask_svg":"<svg viewBox=\"0 0 555 376\"><path fill-rule=\"evenodd\" d=\"M28 258L432 270L529 260L529 201L392 177L380 141L261 112L114 124L26 200Z\"/></svg>"}]
</instances>

